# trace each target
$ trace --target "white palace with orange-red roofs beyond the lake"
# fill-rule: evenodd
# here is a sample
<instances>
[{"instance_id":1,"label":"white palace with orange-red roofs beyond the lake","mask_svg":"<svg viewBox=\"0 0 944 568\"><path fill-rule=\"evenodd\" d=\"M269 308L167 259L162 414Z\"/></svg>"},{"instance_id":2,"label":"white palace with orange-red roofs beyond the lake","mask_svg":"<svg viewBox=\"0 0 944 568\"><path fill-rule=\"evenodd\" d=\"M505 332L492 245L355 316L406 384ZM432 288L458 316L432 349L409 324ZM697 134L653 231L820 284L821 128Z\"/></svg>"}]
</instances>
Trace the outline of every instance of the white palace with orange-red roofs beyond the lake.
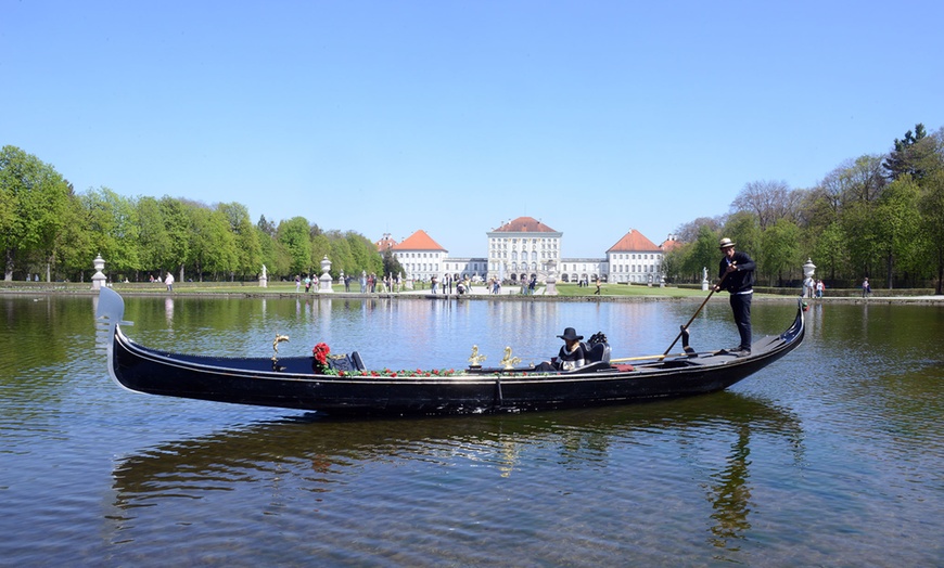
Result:
<instances>
[{"instance_id":1,"label":"white palace with orange-red roofs beyond the lake","mask_svg":"<svg viewBox=\"0 0 944 568\"><path fill-rule=\"evenodd\" d=\"M390 249L406 271L408 280L432 276L469 276L473 280L521 282L537 276L545 282L551 274L560 282L602 282L659 284L662 258L676 246L673 235L655 245L635 229L607 250L605 258L564 258L561 256L563 233L532 217L519 217L486 233L488 256L450 258L425 231L419 230L397 243L390 235L377 243ZM476 277L477 276L477 277Z\"/></svg>"}]
</instances>

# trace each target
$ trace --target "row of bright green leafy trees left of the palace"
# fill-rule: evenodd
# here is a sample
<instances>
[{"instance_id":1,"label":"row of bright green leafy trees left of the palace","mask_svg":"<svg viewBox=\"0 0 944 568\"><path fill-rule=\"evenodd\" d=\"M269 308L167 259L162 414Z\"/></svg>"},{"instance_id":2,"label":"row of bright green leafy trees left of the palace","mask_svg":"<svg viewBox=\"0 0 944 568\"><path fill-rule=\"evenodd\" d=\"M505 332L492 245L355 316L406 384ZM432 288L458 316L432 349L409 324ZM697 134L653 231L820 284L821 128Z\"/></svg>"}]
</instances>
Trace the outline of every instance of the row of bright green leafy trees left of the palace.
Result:
<instances>
[{"instance_id":1,"label":"row of bright green leafy trees left of the palace","mask_svg":"<svg viewBox=\"0 0 944 568\"><path fill-rule=\"evenodd\" d=\"M11 145L0 151L0 249L7 281L85 281L98 255L112 280L132 282L167 272L179 281L251 280L263 264L292 279L320 274L326 256L333 277L403 271L366 236L322 231L304 217L276 224L263 216L254 224L239 203L128 198L107 188L76 193L51 165Z\"/></svg>"}]
</instances>

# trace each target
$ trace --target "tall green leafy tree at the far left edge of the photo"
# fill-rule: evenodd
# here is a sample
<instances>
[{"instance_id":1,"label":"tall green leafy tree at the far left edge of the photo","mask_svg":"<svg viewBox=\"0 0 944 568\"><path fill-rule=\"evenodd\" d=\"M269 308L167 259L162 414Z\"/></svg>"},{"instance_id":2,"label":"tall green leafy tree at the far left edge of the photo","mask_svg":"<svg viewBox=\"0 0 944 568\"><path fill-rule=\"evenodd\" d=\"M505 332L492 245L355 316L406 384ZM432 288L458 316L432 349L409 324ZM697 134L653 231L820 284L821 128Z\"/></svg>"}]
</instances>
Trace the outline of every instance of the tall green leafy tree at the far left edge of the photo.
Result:
<instances>
[{"instance_id":1,"label":"tall green leafy tree at the far left edge of the photo","mask_svg":"<svg viewBox=\"0 0 944 568\"><path fill-rule=\"evenodd\" d=\"M15 146L0 150L0 249L4 280L13 280L17 258L50 259L72 188L55 169Z\"/></svg>"}]
</instances>

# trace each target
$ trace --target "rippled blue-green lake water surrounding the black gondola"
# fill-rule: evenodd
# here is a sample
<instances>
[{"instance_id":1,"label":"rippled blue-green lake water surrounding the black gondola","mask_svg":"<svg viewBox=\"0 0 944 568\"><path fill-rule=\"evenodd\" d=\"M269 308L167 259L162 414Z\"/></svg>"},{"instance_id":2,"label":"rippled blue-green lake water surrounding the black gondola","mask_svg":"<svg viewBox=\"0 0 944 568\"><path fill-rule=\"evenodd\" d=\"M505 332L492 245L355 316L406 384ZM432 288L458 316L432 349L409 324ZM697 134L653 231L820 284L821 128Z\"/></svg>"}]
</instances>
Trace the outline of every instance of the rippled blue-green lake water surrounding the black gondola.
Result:
<instances>
[{"instance_id":1,"label":"rippled blue-green lake water surrounding the black gondola","mask_svg":"<svg viewBox=\"0 0 944 568\"><path fill-rule=\"evenodd\" d=\"M698 301L126 298L188 352L326 341L368 367L525 362L574 326L661 353ZM149 397L90 297L2 296L3 566L942 566L944 307L813 305L796 351L704 397L428 419ZM795 305L755 301L754 333ZM692 345L737 344L726 298Z\"/></svg>"}]
</instances>

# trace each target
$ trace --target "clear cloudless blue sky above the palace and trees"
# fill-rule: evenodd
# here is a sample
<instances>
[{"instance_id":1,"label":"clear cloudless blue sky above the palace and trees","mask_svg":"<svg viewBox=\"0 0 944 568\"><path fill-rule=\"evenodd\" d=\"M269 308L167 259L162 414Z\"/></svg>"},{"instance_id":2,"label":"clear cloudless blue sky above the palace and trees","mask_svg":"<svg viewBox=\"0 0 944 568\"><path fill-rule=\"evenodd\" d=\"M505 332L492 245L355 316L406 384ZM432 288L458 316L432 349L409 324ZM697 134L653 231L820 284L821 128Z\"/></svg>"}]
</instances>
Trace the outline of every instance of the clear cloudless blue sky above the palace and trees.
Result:
<instances>
[{"instance_id":1,"label":"clear cloudless blue sky above the palace and trees","mask_svg":"<svg viewBox=\"0 0 944 568\"><path fill-rule=\"evenodd\" d=\"M0 0L0 145L76 191L599 257L944 126L944 2Z\"/></svg>"}]
</instances>

